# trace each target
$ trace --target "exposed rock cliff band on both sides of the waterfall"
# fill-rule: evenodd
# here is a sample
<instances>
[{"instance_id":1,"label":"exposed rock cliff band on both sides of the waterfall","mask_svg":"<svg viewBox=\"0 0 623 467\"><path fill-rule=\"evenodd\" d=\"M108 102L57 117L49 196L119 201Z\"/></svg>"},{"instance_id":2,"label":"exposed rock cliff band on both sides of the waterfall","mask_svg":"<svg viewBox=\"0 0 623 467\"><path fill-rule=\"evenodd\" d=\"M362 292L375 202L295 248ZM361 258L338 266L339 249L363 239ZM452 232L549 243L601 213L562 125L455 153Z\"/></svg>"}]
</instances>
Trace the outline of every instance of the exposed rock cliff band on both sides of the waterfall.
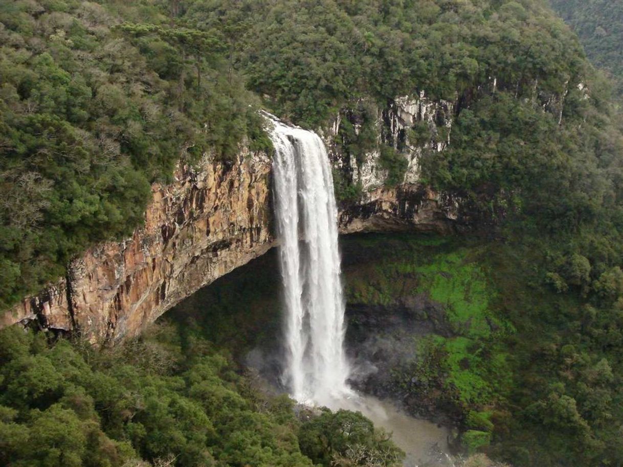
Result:
<instances>
[{"instance_id":1,"label":"exposed rock cliff band on both sides of the waterfall","mask_svg":"<svg viewBox=\"0 0 623 467\"><path fill-rule=\"evenodd\" d=\"M409 115L426 118L419 108L397 101L379 113L379 131L389 122L398 134L412 125ZM359 202L341 207L342 233L455 228L459 204L416 182L417 151L421 148L405 153L409 167L415 167L407 171L405 183L388 189L379 178L375 154L353 166L330 146L334 165L349 167L353 179L378 174L368 177ZM152 187L145 225L133 237L88 250L59 283L2 314L0 328L36 320L42 328L78 331L93 344L140 333L194 291L275 244L270 165L266 154L241 151L232 167L207 159L195 168L179 167L172 184Z\"/></svg>"}]
</instances>

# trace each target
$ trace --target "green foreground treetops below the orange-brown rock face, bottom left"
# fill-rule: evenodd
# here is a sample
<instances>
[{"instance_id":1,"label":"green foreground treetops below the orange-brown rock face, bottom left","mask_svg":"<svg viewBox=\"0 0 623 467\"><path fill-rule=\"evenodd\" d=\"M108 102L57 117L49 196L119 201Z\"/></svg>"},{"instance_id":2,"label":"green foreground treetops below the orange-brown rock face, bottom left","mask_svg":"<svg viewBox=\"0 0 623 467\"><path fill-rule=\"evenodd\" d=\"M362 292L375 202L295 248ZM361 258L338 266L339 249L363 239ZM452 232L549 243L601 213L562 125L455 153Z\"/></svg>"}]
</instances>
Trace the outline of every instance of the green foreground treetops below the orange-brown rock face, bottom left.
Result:
<instances>
[{"instance_id":1,"label":"green foreground treetops below the orange-brown rock face, bottom left","mask_svg":"<svg viewBox=\"0 0 623 467\"><path fill-rule=\"evenodd\" d=\"M0 332L0 464L7 467L394 466L360 413L265 397L206 341L161 327L110 351ZM331 445L319 440L335 440ZM338 443L338 440L340 442ZM364 460L374 458L374 464Z\"/></svg>"}]
</instances>

